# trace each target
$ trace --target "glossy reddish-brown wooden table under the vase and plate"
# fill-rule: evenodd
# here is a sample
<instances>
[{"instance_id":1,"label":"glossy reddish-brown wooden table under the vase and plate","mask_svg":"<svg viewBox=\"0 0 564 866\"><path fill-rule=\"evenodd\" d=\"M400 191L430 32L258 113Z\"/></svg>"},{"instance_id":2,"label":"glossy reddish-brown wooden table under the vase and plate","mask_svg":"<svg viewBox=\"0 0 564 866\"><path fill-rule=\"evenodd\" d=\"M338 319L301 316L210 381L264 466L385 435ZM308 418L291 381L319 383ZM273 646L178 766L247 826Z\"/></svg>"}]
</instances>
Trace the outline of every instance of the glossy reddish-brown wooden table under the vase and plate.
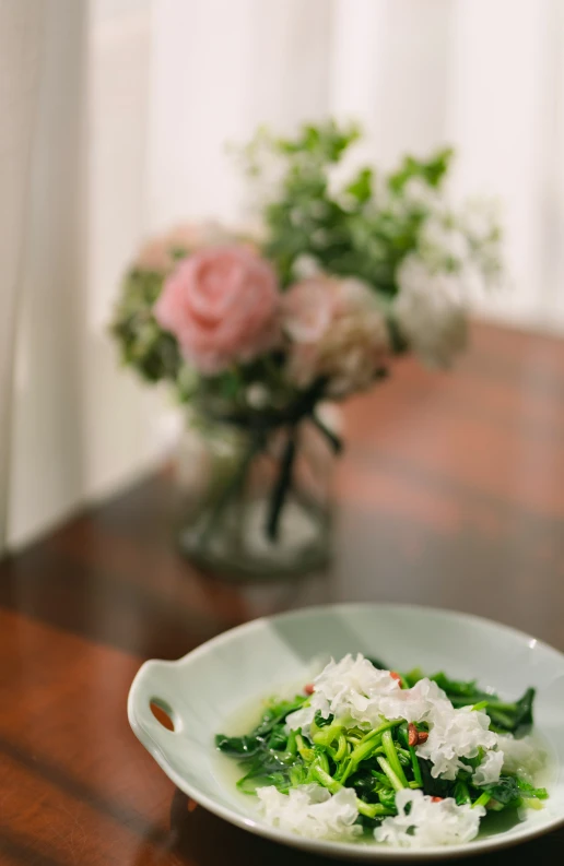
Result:
<instances>
[{"instance_id":1,"label":"glossy reddish-brown wooden table under the vase and plate","mask_svg":"<svg viewBox=\"0 0 564 866\"><path fill-rule=\"evenodd\" d=\"M127 722L150 656L341 600L483 614L564 650L564 343L477 327L454 373L401 363L345 422L329 573L246 586L198 573L172 545L165 473L2 564L1 866L320 866L188 811ZM561 830L480 862L556 863L563 844Z\"/></svg>"}]
</instances>

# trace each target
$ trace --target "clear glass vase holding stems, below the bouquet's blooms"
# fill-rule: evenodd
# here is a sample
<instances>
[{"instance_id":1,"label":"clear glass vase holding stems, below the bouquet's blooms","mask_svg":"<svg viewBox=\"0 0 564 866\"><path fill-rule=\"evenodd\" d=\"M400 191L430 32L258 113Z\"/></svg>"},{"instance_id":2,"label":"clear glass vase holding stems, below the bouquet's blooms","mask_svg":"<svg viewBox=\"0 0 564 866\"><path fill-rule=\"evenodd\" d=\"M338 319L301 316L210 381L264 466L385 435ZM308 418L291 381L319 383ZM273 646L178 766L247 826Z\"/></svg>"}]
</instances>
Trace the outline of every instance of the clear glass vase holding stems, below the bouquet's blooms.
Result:
<instances>
[{"instance_id":1,"label":"clear glass vase holding stems, below the bouquet's blooms","mask_svg":"<svg viewBox=\"0 0 564 866\"><path fill-rule=\"evenodd\" d=\"M192 419L179 460L181 553L207 571L239 579L284 578L327 566L332 408L319 427L309 419L258 430Z\"/></svg>"}]
</instances>

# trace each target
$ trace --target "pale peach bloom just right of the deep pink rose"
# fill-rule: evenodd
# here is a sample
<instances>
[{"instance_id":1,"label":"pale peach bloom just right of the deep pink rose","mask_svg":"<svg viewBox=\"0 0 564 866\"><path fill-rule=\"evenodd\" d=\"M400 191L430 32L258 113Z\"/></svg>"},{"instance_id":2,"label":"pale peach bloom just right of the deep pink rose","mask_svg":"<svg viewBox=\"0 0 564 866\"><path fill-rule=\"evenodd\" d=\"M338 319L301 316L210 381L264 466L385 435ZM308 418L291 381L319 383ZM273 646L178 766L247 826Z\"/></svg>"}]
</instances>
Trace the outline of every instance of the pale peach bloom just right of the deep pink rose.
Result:
<instances>
[{"instance_id":1,"label":"pale peach bloom just right of the deep pink rose","mask_svg":"<svg viewBox=\"0 0 564 866\"><path fill-rule=\"evenodd\" d=\"M287 376L295 385L307 388L326 376L332 396L369 388L389 349L388 329L369 286L319 274L291 286L282 305L282 327L291 341Z\"/></svg>"}]
</instances>

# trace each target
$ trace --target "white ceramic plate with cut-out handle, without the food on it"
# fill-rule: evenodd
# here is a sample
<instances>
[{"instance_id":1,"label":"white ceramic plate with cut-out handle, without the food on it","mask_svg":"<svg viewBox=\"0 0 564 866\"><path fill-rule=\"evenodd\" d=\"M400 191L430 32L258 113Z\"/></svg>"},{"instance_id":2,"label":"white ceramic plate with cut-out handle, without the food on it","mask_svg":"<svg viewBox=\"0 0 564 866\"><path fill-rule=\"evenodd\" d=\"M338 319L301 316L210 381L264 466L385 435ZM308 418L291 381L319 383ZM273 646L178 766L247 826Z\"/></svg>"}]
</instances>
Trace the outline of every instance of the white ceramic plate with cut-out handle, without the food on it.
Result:
<instances>
[{"instance_id":1,"label":"white ceramic plate with cut-out handle, without the food on it","mask_svg":"<svg viewBox=\"0 0 564 866\"><path fill-rule=\"evenodd\" d=\"M233 732L234 715L261 698L305 683L314 656L363 652L398 671L445 669L478 678L507 699L538 689L536 729L550 755L550 798L521 823L465 845L398 850L376 843L305 839L263 823L256 798L236 791L213 735ZM175 731L153 716L160 703ZM431 859L478 854L548 832L564 822L564 655L534 638L473 616L426 607L345 604L256 619L177 662L146 662L128 701L131 727L169 779L210 811L250 832L307 851L351 859ZM258 715L258 710L257 710ZM230 731L231 723L231 731ZM234 776L236 778L236 776Z\"/></svg>"}]
</instances>

